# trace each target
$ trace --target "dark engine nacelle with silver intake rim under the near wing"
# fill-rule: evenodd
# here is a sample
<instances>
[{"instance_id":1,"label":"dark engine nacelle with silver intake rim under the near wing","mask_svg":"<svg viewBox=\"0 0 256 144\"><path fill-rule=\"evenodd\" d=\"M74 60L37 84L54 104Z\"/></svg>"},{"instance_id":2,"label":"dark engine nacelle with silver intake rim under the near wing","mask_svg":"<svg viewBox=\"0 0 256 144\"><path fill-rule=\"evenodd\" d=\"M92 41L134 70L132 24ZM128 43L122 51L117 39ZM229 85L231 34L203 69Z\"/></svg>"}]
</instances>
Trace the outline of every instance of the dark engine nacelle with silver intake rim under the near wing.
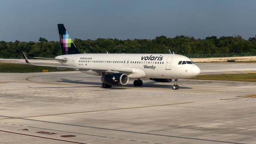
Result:
<instances>
[{"instance_id":1,"label":"dark engine nacelle with silver intake rim under the near wing","mask_svg":"<svg viewBox=\"0 0 256 144\"><path fill-rule=\"evenodd\" d=\"M101 77L101 81L110 85L126 85L129 81L128 75L123 73L106 74Z\"/></svg>"}]
</instances>

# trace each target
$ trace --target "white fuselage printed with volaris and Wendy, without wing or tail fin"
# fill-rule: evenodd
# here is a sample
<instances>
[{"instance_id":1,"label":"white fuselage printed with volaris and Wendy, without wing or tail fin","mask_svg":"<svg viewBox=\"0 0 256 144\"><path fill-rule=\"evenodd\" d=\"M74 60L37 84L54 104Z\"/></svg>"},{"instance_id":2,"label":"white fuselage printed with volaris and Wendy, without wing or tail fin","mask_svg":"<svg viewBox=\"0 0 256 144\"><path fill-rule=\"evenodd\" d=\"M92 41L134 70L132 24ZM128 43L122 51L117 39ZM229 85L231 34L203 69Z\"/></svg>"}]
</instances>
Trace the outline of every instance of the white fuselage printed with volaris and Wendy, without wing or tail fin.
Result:
<instances>
[{"instance_id":1,"label":"white fuselage printed with volaris and Wendy, without wing or tail fin","mask_svg":"<svg viewBox=\"0 0 256 144\"><path fill-rule=\"evenodd\" d=\"M178 54L68 54L56 58L66 58L66 62L59 61L65 66L130 69L133 72L129 78L191 78L200 73L196 64ZM186 64L179 64L180 61L186 61ZM79 71L102 75L93 70Z\"/></svg>"}]
</instances>

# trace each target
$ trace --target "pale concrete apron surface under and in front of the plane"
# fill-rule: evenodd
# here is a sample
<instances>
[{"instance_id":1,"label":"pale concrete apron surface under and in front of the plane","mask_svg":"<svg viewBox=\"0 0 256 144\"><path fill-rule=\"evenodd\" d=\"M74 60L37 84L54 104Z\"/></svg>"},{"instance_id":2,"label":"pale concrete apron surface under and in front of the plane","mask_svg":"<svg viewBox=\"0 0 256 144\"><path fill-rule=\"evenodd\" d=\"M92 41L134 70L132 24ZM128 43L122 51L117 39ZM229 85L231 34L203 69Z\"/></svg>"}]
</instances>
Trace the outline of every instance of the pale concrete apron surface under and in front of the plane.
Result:
<instances>
[{"instance_id":1,"label":"pale concrete apron surface under and in front of the plane","mask_svg":"<svg viewBox=\"0 0 256 144\"><path fill-rule=\"evenodd\" d=\"M1 144L255 144L256 83L0 73Z\"/></svg>"}]
</instances>

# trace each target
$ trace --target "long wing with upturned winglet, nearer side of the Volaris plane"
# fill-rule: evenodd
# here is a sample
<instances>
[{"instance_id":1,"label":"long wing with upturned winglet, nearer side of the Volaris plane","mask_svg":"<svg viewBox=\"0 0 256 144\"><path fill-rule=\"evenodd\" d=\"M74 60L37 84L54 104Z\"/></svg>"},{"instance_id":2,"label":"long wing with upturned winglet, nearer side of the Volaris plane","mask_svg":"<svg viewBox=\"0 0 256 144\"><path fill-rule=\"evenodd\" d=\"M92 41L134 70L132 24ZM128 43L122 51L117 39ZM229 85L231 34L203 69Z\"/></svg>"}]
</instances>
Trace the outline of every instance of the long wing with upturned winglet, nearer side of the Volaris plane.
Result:
<instances>
[{"instance_id":1,"label":"long wing with upturned winglet, nearer side of the Volaris plane","mask_svg":"<svg viewBox=\"0 0 256 144\"><path fill-rule=\"evenodd\" d=\"M75 70L93 70L95 72L122 72L125 74L131 74L132 70L129 69L104 69L104 68L82 68L82 67L75 67L75 66L53 66L53 65L42 65L42 64L32 64L31 62L28 61L28 58L22 51L23 58L25 59L27 64L33 65L33 66L48 66L48 67L56 67L56 68L72 68ZM62 59L60 59L62 60Z\"/></svg>"}]
</instances>

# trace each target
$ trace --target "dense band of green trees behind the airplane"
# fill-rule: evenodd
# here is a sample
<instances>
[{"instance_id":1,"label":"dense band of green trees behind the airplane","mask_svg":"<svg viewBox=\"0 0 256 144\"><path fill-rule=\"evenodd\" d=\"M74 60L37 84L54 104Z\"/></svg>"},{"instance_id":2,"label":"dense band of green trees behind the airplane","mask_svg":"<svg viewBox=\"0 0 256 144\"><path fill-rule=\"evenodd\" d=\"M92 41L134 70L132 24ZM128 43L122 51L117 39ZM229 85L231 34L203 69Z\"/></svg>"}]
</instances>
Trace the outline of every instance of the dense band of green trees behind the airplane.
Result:
<instances>
[{"instance_id":1,"label":"dense band of green trees behind the airplane","mask_svg":"<svg viewBox=\"0 0 256 144\"><path fill-rule=\"evenodd\" d=\"M256 36L244 40L241 36L216 36L195 39L189 36L167 38L158 36L155 39L118 40L98 38L80 40L74 43L82 53L164 53L168 49L176 54L230 54L256 53ZM21 57L21 51L28 57L55 57L61 55L60 42L39 38L39 42L4 42L0 41L0 58Z\"/></svg>"}]
</instances>

